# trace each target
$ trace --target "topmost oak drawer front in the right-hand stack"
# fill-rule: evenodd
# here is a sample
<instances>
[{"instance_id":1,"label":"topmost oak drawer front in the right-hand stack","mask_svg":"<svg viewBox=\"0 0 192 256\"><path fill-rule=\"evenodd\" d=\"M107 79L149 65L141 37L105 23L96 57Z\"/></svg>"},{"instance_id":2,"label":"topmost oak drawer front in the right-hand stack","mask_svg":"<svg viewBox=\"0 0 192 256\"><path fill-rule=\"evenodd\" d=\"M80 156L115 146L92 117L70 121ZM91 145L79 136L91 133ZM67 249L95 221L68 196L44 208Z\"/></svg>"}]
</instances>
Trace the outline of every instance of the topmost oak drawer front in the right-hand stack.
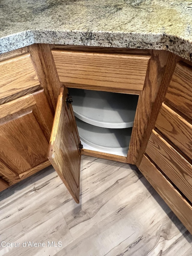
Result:
<instances>
[{"instance_id":1,"label":"topmost oak drawer front in the right-hand stack","mask_svg":"<svg viewBox=\"0 0 192 256\"><path fill-rule=\"evenodd\" d=\"M166 98L184 115L192 117L192 67L177 63Z\"/></svg>"}]
</instances>

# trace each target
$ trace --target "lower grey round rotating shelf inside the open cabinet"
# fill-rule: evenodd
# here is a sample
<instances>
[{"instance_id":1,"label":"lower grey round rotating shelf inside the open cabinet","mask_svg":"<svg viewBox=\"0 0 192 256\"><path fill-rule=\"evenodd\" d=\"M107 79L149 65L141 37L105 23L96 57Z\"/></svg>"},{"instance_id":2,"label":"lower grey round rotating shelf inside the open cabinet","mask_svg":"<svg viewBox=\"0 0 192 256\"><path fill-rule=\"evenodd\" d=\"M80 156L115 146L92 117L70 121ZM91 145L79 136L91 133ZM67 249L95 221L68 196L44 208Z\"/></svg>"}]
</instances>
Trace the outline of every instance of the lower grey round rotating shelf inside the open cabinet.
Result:
<instances>
[{"instance_id":1,"label":"lower grey round rotating shelf inside the open cabinet","mask_svg":"<svg viewBox=\"0 0 192 256\"><path fill-rule=\"evenodd\" d=\"M103 128L90 125L78 118L76 118L76 124L82 144L84 142L97 151L111 154L113 152L128 152L132 128Z\"/></svg>"}]
</instances>

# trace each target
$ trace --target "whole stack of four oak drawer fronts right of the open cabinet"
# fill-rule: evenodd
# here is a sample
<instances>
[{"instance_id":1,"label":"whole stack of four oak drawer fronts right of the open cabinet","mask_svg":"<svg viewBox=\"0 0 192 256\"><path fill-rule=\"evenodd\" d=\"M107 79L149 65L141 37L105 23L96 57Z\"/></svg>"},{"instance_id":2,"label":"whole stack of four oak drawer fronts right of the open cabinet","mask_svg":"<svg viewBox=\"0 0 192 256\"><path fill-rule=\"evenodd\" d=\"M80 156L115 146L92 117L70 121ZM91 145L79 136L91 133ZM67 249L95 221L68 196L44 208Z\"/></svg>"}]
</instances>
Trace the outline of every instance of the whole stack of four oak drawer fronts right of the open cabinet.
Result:
<instances>
[{"instance_id":1,"label":"whole stack of four oak drawer fronts right of the open cabinet","mask_svg":"<svg viewBox=\"0 0 192 256\"><path fill-rule=\"evenodd\" d=\"M182 62L176 65L146 154L158 167L144 156L140 170L192 232L192 68Z\"/></svg>"}]
</instances>

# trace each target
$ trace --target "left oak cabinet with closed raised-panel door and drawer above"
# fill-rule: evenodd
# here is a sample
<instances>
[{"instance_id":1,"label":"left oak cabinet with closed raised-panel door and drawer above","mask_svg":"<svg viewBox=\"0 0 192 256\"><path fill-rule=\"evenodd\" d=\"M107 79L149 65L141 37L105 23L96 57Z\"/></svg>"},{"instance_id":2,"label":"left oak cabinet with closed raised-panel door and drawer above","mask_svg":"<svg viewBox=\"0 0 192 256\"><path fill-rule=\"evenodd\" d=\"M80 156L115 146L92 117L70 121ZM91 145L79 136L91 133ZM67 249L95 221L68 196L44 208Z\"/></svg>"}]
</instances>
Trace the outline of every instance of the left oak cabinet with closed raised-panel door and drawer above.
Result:
<instances>
[{"instance_id":1,"label":"left oak cabinet with closed raised-panel door and drawer above","mask_svg":"<svg viewBox=\"0 0 192 256\"><path fill-rule=\"evenodd\" d=\"M50 165L47 150L53 114L29 52L3 59L0 71L0 189L3 190Z\"/></svg>"}]
</instances>

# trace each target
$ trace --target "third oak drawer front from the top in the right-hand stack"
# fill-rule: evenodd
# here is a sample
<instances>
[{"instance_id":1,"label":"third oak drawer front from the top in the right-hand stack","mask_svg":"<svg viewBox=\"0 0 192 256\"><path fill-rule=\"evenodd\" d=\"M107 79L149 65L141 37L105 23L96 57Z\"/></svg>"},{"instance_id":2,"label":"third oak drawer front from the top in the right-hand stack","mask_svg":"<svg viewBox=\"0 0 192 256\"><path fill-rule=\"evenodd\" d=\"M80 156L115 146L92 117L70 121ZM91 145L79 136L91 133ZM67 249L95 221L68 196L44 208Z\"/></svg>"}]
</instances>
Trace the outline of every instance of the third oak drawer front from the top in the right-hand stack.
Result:
<instances>
[{"instance_id":1,"label":"third oak drawer front from the top in the right-hand stack","mask_svg":"<svg viewBox=\"0 0 192 256\"><path fill-rule=\"evenodd\" d=\"M150 136L146 154L192 202L192 165L155 130Z\"/></svg>"}]
</instances>

